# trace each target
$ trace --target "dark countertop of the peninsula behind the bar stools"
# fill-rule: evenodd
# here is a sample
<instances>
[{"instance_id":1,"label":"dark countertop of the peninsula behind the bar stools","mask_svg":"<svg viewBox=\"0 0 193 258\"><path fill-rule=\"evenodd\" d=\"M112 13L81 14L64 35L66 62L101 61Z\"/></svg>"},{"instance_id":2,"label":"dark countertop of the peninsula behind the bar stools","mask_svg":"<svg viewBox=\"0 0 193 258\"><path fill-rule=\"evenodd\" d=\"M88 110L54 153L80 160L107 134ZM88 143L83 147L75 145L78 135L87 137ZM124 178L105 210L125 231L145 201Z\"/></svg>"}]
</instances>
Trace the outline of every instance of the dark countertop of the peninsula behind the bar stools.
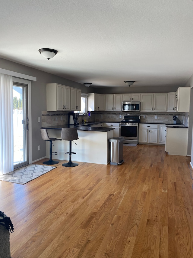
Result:
<instances>
[{"instance_id":1,"label":"dark countertop of the peninsula behind the bar stools","mask_svg":"<svg viewBox=\"0 0 193 258\"><path fill-rule=\"evenodd\" d=\"M97 124L98 122L96 122ZM81 123L82 124L82 123ZM60 125L60 126L46 126L46 127L42 127L43 129L54 129L54 130L62 130L62 128L70 128L71 126L68 125ZM78 131L91 131L91 132L109 132L113 129L115 129L115 127L91 127L88 124L85 126L72 126L73 127L77 127Z\"/></svg>"}]
</instances>

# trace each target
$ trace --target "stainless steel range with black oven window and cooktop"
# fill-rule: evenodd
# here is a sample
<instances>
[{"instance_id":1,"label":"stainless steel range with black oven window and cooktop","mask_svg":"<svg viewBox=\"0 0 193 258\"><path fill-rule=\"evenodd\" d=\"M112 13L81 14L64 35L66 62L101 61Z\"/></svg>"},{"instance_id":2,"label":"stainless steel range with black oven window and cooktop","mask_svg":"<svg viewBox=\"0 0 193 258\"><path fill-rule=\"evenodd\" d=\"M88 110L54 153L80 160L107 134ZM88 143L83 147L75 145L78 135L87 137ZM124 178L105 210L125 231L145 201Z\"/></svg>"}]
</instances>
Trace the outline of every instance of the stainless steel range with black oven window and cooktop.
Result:
<instances>
[{"instance_id":1,"label":"stainless steel range with black oven window and cooktop","mask_svg":"<svg viewBox=\"0 0 193 258\"><path fill-rule=\"evenodd\" d=\"M138 144L138 126L140 116L123 116L119 123L119 135L123 137L123 143Z\"/></svg>"}]
</instances>

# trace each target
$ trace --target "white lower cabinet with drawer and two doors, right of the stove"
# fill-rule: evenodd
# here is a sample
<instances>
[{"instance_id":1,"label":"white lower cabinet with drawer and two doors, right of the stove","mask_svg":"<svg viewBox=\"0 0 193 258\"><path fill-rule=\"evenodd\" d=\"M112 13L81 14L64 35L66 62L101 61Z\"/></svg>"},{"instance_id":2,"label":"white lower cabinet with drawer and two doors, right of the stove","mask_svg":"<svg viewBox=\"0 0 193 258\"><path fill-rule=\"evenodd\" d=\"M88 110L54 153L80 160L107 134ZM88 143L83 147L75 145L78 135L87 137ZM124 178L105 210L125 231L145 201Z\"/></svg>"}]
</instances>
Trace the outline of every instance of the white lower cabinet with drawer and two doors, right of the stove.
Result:
<instances>
[{"instance_id":1,"label":"white lower cabinet with drawer and two doors, right of the stove","mask_svg":"<svg viewBox=\"0 0 193 258\"><path fill-rule=\"evenodd\" d=\"M157 124L139 124L139 143L158 143Z\"/></svg>"}]
</instances>

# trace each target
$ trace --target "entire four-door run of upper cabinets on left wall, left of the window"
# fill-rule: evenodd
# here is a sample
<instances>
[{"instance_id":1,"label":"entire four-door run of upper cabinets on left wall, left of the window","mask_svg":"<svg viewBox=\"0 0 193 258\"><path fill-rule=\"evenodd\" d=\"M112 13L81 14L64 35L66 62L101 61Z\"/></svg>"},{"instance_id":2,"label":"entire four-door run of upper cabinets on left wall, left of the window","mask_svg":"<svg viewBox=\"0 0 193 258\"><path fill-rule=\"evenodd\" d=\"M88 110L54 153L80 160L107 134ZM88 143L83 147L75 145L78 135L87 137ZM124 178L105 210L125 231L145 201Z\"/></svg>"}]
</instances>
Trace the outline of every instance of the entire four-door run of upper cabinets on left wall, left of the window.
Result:
<instances>
[{"instance_id":1,"label":"entire four-door run of upper cabinets on left wall, left of the window","mask_svg":"<svg viewBox=\"0 0 193 258\"><path fill-rule=\"evenodd\" d=\"M81 90L74 89L71 95L71 87L58 83L46 84L47 111L73 111L71 102L76 107L74 111L81 110Z\"/></svg>"}]
</instances>

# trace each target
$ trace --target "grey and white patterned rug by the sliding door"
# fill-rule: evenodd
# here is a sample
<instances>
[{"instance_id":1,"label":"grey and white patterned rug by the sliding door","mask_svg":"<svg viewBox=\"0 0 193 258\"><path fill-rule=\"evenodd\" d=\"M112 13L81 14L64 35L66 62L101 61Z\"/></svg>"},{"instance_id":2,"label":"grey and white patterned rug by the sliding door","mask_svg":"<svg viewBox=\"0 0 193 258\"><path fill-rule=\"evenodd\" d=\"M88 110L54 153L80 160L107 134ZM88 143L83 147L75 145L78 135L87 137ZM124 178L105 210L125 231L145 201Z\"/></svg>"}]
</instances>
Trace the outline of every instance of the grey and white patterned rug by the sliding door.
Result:
<instances>
[{"instance_id":1,"label":"grey and white patterned rug by the sliding door","mask_svg":"<svg viewBox=\"0 0 193 258\"><path fill-rule=\"evenodd\" d=\"M0 176L0 180L24 185L27 182L43 174L46 174L54 168L56 167L36 165L31 163L28 166L18 168L12 174Z\"/></svg>"}]
</instances>

